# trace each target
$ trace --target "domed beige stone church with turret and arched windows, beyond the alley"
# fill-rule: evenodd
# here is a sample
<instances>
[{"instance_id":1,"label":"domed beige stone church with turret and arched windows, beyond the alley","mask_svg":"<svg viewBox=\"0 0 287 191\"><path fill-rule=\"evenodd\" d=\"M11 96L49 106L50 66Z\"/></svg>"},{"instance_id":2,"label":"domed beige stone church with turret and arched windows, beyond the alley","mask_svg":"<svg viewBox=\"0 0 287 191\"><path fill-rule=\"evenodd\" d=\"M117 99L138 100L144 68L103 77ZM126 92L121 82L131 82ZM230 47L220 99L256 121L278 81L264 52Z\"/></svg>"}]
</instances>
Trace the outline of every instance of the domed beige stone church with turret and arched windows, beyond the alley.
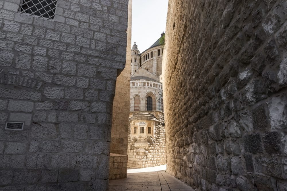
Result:
<instances>
[{"instance_id":1,"label":"domed beige stone church with turret and arched windows, beyond the alley","mask_svg":"<svg viewBox=\"0 0 287 191\"><path fill-rule=\"evenodd\" d=\"M162 51L159 39L141 54L136 44L131 49L129 168L166 164Z\"/></svg>"}]
</instances>

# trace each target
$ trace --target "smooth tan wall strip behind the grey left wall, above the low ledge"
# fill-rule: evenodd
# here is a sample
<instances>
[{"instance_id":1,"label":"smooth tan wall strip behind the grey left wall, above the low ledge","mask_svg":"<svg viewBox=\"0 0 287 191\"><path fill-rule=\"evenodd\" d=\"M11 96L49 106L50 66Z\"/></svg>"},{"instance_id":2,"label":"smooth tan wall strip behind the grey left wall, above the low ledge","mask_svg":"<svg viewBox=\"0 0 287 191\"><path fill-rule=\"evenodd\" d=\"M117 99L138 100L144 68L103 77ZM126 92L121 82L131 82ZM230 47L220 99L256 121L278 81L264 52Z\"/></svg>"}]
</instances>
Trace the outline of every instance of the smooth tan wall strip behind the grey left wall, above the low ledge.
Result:
<instances>
[{"instance_id":1,"label":"smooth tan wall strip behind the grey left wall, above the low ledge","mask_svg":"<svg viewBox=\"0 0 287 191\"><path fill-rule=\"evenodd\" d=\"M127 49L125 69L117 77L115 98L113 102L113 123L110 152L127 155L127 138L130 108L130 70L131 70L131 16L132 0L128 5Z\"/></svg>"}]
</instances>

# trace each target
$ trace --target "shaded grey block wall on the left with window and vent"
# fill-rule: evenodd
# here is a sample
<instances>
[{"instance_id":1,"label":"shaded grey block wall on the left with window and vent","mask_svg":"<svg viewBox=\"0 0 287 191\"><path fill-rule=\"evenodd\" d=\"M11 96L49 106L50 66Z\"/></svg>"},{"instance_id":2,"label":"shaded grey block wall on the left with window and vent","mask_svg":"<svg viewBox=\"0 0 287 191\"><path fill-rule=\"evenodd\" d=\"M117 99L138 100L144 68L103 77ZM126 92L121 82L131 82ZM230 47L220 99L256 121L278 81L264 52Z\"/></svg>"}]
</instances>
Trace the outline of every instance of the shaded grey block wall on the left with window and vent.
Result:
<instances>
[{"instance_id":1,"label":"shaded grey block wall on the left with window and vent","mask_svg":"<svg viewBox=\"0 0 287 191\"><path fill-rule=\"evenodd\" d=\"M107 190L128 0L58 0L54 21L21 3L0 0L0 190Z\"/></svg>"}]
</instances>

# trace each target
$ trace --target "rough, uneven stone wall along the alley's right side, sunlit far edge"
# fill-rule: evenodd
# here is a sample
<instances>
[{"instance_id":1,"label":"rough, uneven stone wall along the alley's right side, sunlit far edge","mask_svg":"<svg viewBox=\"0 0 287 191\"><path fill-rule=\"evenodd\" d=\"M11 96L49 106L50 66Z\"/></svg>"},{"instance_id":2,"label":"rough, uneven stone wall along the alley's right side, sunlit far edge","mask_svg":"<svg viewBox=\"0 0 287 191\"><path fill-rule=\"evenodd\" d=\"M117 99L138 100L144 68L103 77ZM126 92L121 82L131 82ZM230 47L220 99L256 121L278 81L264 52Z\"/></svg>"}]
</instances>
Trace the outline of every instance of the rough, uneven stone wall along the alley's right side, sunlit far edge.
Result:
<instances>
[{"instance_id":1,"label":"rough, uneven stone wall along the alley's right side, sunlit far edge","mask_svg":"<svg viewBox=\"0 0 287 191\"><path fill-rule=\"evenodd\" d=\"M286 1L168 8L167 172L198 190L286 190Z\"/></svg>"}]
</instances>

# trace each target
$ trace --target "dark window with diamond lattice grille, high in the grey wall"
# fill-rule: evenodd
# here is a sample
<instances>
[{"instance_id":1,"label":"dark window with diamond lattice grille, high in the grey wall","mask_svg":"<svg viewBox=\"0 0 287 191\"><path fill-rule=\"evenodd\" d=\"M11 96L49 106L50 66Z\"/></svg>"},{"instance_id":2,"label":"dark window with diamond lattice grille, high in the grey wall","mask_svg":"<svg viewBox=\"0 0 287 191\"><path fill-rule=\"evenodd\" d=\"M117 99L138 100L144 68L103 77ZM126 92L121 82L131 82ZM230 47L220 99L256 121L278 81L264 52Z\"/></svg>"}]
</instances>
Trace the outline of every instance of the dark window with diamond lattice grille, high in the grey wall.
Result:
<instances>
[{"instance_id":1,"label":"dark window with diamond lattice grille, high in the grey wall","mask_svg":"<svg viewBox=\"0 0 287 191\"><path fill-rule=\"evenodd\" d=\"M22 0L20 13L54 20L58 0Z\"/></svg>"}]
</instances>

